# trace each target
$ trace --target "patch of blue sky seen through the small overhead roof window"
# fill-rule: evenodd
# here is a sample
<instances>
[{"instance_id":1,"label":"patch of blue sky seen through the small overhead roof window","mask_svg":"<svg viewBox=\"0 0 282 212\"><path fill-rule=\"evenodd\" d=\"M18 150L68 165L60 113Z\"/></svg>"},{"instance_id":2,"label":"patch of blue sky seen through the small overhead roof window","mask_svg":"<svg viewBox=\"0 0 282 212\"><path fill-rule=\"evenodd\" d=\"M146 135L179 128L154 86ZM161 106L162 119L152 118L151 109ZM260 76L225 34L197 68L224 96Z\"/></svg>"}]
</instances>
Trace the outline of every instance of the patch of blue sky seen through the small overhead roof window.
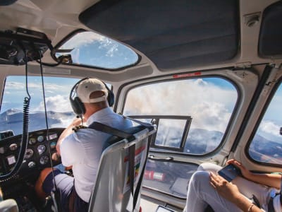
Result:
<instances>
[{"instance_id":1,"label":"patch of blue sky seen through the small overhead roof window","mask_svg":"<svg viewBox=\"0 0 282 212\"><path fill-rule=\"evenodd\" d=\"M60 49L73 49L67 54L71 54L74 64L106 69L118 69L135 64L138 60L137 54L132 49L109 37L93 32L78 33L64 43Z\"/></svg>"}]
</instances>

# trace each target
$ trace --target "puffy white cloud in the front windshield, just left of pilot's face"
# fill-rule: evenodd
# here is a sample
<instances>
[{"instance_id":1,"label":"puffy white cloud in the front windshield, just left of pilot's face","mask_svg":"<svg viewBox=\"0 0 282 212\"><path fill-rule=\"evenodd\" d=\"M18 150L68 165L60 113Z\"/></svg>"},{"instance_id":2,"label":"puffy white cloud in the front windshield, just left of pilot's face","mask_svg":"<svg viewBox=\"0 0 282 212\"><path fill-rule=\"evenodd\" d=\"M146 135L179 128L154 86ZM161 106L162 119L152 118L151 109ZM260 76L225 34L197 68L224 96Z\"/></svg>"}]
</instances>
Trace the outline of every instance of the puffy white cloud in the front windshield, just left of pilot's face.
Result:
<instances>
[{"instance_id":1,"label":"puffy white cloud in the front windshield, just left of pilot's face","mask_svg":"<svg viewBox=\"0 0 282 212\"><path fill-rule=\"evenodd\" d=\"M55 112L69 112L73 109L71 108L70 100L67 96L55 95L49 98L46 98L46 107L48 111ZM35 108L35 111L43 111L44 102L39 103L39 107Z\"/></svg>"}]
</instances>

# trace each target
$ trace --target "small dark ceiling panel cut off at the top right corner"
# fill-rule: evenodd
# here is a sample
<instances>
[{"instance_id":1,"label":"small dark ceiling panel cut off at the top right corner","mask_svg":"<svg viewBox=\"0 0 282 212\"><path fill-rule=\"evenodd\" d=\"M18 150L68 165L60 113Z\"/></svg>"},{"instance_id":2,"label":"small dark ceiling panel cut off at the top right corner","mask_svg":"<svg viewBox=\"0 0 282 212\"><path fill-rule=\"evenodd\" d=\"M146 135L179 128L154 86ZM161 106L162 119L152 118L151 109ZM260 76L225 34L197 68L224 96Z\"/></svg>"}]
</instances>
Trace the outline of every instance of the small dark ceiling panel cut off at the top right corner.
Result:
<instances>
[{"instance_id":1,"label":"small dark ceiling panel cut off at the top right corner","mask_svg":"<svg viewBox=\"0 0 282 212\"><path fill-rule=\"evenodd\" d=\"M259 33L259 56L282 57L282 1L268 6L262 15Z\"/></svg>"}]
</instances>

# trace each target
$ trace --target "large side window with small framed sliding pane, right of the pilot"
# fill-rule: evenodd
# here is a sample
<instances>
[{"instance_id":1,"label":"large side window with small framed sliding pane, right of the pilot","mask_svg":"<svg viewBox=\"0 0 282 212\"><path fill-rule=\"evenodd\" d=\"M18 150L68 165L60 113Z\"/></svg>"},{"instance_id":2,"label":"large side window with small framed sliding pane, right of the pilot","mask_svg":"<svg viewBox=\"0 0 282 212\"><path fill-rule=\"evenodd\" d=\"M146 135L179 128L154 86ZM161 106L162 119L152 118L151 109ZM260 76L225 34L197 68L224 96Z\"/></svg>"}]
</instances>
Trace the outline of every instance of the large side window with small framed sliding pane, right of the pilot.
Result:
<instances>
[{"instance_id":1,"label":"large side window with small framed sliding pane, right of the pilot","mask_svg":"<svg viewBox=\"0 0 282 212\"><path fill-rule=\"evenodd\" d=\"M123 114L156 117L152 148L203 155L221 143L237 98L223 78L161 81L130 90Z\"/></svg>"}]
</instances>

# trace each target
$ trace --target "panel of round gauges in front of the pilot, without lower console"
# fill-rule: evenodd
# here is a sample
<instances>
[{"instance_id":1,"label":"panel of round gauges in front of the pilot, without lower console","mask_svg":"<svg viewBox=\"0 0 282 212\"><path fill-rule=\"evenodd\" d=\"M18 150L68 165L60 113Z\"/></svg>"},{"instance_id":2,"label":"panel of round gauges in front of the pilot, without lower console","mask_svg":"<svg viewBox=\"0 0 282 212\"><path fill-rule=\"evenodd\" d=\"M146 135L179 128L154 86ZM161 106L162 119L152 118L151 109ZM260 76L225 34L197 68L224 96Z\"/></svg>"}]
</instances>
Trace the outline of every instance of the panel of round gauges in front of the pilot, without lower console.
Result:
<instances>
[{"instance_id":1,"label":"panel of round gauges in front of the pilot, without lower console","mask_svg":"<svg viewBox=\"0 0 282 212\"><path fill-rule=\"evenodd\" d=\"M56 143L64 128L52 128L32 131L28 134L27 148L18 177L30 175L32 170L59 165L61 158L56 155ZM48 135L47 135L48 134ZM0 140L0 175L6 175L18 160L22 135ZM50 159L52 158L52 159Z\"/></svg>"}]
</instances>

